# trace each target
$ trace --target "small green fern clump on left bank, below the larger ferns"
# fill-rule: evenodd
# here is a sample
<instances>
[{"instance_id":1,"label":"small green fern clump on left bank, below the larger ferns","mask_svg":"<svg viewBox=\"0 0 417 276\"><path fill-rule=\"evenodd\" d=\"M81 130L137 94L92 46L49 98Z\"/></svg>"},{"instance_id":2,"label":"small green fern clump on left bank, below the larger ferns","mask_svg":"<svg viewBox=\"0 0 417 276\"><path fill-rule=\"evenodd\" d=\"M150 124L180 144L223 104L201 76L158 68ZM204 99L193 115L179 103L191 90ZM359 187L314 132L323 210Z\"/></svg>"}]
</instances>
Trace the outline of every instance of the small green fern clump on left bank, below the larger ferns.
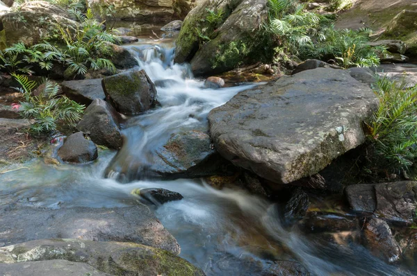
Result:
<instances>
[{"instance_id":1,"label":"small green fern clump on left bank, below the larger ferns","mask_svg":"<svg viewBox=\"0 0 417 276\"><path fill-rule=\"evenodd\" d=\"M58 121L74 124L81 119L84 105L70 100L66 96L58 96L59 85L45 80L38 94L33 94L35 81L27 76L12 74L22 87L17 88L24 95L24 102L20 103L19 112L22 117L34 119L31 126L34 132L53 132Z\"/></svg>"}]
</instances>

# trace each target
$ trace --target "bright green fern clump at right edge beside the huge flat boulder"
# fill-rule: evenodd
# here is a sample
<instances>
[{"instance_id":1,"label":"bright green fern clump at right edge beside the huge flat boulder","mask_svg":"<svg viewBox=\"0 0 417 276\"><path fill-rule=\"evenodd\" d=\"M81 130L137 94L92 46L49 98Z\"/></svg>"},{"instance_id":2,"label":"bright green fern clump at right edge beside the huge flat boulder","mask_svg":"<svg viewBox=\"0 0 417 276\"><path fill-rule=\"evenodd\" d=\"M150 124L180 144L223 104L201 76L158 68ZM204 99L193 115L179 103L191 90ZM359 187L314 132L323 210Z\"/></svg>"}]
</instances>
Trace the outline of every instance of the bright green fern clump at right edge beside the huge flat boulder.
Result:
<instances>
[{"instance_id":1,"label":"bright green fern clump at right edge beside the huge flat boulder","mask_svg":"<svg viewBox=\"0 0 417 276\"><path fill-rule=\"evenodd\" d=\"M379 107L368 125L377 153L394 168L409 169L417 157L417 87L379 78Z\"/></svg>"}]
</instances>

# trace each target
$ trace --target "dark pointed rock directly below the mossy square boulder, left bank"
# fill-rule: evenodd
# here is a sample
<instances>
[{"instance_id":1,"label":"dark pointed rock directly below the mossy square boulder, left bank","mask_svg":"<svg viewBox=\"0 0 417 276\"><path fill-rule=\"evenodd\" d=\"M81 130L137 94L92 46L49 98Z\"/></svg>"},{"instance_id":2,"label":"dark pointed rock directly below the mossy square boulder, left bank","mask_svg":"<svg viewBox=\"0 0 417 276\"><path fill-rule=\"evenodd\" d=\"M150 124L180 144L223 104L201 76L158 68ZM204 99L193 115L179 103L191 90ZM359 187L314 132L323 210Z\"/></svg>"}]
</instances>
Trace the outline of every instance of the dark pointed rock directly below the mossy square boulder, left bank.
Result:
<instances>
[{"instance_id":1,"label":"dark pointed rock directly below the mossy square boulder, left bank","mask_svg":"<svg viewBox=\"0 0 417 276\"><path fill-rule=\"evenodd\" d=\"M76 128L90 135L95 144L117 149L122 146L119 121L120 114L111 105L96 98L87 107Z\"/></svg>"}]
</instances>

